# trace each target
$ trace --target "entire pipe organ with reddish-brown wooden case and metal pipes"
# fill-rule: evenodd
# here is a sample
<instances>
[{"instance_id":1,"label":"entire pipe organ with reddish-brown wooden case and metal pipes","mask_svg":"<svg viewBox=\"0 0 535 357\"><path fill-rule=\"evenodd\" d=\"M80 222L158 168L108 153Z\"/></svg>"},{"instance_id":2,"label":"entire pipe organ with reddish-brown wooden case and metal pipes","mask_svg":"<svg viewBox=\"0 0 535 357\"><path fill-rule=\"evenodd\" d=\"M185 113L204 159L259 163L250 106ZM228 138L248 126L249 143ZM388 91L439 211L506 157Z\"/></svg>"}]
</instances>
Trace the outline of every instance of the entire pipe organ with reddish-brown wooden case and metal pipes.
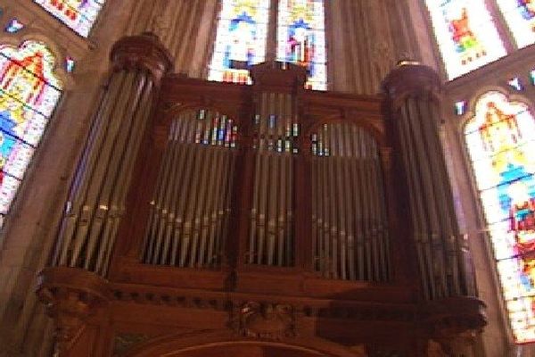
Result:
<instances>
[{"instance_id":1,"label":"entire pipe organ with reddish-brown wooden case and metal pipes","mask_svg":"<svg viewBox=\"0 0 535 357\"><path fill-rule=\"evenodd\" d=\"M148 34L111 60L37 286L57 355L472 355L434 72L376 96L281 62L207 82Z\"/></svg>"}]
</instances>

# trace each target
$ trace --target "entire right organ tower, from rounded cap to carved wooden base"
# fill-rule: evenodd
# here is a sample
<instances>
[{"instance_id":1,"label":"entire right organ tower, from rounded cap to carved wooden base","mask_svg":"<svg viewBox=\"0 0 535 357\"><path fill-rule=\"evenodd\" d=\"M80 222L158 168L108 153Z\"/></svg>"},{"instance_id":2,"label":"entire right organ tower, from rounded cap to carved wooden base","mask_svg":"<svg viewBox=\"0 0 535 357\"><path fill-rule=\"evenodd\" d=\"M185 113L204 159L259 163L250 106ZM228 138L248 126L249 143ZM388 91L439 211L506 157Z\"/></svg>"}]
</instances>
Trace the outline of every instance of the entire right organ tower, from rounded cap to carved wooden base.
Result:
<instances>
[{"instance_id":1,"label":"entire right organ tower, from rounded cap to carved wooden base","mask_svg":"<svg viewBox=\"0 0 535 357\"><path fill-rule=\"evenodd\" d=\"M458 350L452 346L459 336L481 329L486 320L440 143L440 78L427 66L403 62L384 80L383 90L403 178L398 199L405 210L399 214L409 226L407 242L415 248L420 273L423 338L451 352Z\"/></svg>"}]
</instances>

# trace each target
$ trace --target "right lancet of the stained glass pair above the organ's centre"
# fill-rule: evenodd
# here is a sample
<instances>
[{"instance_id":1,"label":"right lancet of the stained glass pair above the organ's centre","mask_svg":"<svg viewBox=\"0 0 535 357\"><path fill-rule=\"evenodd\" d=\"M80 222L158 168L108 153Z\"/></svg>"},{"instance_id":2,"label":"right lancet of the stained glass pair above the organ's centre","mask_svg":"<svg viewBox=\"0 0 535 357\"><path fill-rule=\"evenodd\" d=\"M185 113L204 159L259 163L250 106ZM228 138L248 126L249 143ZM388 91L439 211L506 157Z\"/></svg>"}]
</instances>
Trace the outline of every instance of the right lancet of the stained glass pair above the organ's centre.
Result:
<instances>
[{"instance_id":1,"label":"right lancet of the stained glass pair above the organ's centre","mask_svg":"<svg viewBox=\"0 0 535 357\"><path fill-rule=\"evenodd\" d=\"M306 87L326 89L325 9L323 0L280 0L277 60L307 68Z\"/></svg>"}]
</instances>

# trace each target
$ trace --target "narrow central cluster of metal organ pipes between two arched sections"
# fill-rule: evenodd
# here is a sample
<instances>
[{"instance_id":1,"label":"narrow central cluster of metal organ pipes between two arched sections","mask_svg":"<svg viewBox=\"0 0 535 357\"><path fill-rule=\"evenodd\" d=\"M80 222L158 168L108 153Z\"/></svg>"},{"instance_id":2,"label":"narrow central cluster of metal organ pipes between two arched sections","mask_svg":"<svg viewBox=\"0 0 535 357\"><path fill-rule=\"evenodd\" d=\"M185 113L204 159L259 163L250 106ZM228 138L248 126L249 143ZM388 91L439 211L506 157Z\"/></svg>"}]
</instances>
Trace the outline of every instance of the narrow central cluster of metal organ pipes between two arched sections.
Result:
<instances>
[{"instance_id":1,"label":"narrow central cluster of metal organ pipes between two arched sections","mask_svg":"<svg viewBox=\"0 0 535 357\"><path fill-rule=\"evenodd\" d=\"M298 135L292 95L261 93L254 117L256 152L246 262L290 266L293 262L292 171Z\"/></svg>"}]
</instances>

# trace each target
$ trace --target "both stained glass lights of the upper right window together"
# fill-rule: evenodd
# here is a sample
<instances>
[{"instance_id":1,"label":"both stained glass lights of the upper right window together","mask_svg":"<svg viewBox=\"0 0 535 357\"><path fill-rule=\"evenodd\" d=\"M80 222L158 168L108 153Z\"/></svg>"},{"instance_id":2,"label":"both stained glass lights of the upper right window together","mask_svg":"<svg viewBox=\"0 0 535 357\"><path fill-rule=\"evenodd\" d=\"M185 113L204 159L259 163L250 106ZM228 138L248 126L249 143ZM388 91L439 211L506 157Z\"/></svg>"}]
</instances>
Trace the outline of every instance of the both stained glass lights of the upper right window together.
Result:
<instances>
[{"instance_id":1,"label":"both stained glass lights of the upper right window together","mask_svg":"<svg viewBox=\"0 0 535 357\"><path fill-rule=\"evenodd\" d=\"M532 0L425 0L425 4L448 79L504 57L506 48L535 43ZM514 44L504 36L507 31Z\"/></svg>"}]
</instances>

